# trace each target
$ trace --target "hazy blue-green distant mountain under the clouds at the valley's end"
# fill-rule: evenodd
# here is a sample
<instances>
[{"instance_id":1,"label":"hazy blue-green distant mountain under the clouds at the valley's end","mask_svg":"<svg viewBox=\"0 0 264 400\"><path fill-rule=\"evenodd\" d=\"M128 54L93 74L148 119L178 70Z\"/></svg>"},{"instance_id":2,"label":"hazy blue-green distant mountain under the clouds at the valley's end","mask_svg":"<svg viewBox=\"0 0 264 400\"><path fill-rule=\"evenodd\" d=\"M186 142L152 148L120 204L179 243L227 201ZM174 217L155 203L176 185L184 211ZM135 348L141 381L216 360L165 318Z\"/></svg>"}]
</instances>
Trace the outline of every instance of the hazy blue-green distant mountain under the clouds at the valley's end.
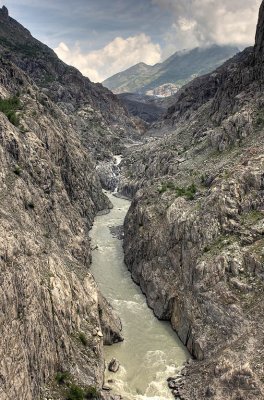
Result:
<instances>
[{"instance_id":1,"label":"hazy blue-green distant mountain under the clouds at the valley's end","mask_svg":"<svg viewBox=\"0 0 264 400\"><path fill-rule=\"evenodd\" d=\"M238 51L233 46L212 45L176 52L163 63L154 66L136 64L106 79L103 85L114 93L151 95L162 92L163 85L173 84L175 92L193 78L213 71ZM171 90L165 91L167 94L171 95Z\"/></svg>"}]
</instances>

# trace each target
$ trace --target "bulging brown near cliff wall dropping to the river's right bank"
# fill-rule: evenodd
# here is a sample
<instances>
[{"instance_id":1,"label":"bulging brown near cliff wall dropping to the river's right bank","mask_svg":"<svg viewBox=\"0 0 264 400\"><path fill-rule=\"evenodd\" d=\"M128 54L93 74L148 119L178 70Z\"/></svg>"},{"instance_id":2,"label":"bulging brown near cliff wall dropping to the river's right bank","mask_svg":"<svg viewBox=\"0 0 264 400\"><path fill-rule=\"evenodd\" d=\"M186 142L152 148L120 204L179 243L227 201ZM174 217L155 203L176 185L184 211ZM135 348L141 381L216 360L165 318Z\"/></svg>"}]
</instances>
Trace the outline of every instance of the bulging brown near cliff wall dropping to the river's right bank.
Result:
<instances>
[{"instance_id":1,"label":"bulging brown near cliff wall dropping to the river's right bank","mask_svg":"<svg viewBox=\"0 0 264 400\"><path fill-rule=\"evenodd\" d=\"M187 398L204 398L212 381L215 398L236 398L232 379L243 383L231 370L247 363L244 389L253 386L245 398L263 396L255 357L263 341L263 150L248 149L253 154L222 170L210 188L201 185L194 199L187 189L175 198L172 181L166 190L157 182L138 191L125 221L133 279L155 314L170 320L194 357L205 360L207 375L197 377L200 383L190 377ZM222 359L231 362L229 392L220 387L222 374L214 377Z\"/></svg>"}]
</instances>

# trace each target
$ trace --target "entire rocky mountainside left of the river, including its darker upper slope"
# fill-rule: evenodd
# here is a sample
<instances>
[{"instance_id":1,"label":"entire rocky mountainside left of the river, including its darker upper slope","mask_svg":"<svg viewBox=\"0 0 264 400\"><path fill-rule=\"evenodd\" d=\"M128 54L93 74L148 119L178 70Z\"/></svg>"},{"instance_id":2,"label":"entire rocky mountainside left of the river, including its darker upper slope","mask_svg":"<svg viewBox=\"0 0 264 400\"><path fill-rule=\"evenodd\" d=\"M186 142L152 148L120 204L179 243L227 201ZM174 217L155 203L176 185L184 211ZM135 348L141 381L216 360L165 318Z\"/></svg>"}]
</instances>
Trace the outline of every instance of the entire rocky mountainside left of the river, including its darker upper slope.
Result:
<instances>
[{"instance_id":1,"label":"entire rocky mountainside left of the river, including its darker upper slope","mask_svg":"<svg viewBox=\"0 0 264 400\"><path fill-rule=\"evenodd\" d=\"M137 135L115 95L0 9L1 400L101 396L103 344L122 336L89 272L111 207L96 163Z\"/></svg>"}]
</instances>

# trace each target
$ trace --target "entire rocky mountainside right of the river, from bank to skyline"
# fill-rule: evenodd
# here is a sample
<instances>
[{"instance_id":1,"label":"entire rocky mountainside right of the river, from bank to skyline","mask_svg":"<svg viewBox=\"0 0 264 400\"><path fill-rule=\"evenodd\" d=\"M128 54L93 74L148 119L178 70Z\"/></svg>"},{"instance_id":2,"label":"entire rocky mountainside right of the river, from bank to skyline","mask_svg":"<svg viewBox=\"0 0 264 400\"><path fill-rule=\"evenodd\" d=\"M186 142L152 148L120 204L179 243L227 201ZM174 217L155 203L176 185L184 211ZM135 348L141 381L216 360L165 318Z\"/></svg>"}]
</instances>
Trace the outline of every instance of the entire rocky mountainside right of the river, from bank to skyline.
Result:
<instances>
[{"instance_id":1,"label":"entire rocky mountainside right of the river, from bank to skyline","mask_svg":"<svg viewBox=\"0 0 264 400\"><path fill-rule=\"evenodd\" d=\"M262 4L255 48L183 88L123 163L125 260L196 359L184 399L264 396L263 26Z\"/></svg>"}]
</instances>

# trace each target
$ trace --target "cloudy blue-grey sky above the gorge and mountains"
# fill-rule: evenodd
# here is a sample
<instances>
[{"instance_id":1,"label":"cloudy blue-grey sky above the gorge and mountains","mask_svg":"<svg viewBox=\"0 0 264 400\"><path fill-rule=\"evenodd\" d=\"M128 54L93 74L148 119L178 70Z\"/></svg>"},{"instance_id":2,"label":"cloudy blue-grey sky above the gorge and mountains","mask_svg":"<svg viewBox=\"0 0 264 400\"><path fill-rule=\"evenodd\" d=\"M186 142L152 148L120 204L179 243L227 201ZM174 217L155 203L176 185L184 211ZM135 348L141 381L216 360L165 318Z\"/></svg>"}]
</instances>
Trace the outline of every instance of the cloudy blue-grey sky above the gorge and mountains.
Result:
<instances>
[{"instance_id":1,"label":"cloudy blue-grey sky above the gorge and mountains","mask_svg":"<svg viewBox=\"0 0 264 400\"><path fill-rule=\"evenodd\" d=\"M33 36L94 82L210 44L254 43L261 0L6 0Z\"/></svg>"}]
</instances>

